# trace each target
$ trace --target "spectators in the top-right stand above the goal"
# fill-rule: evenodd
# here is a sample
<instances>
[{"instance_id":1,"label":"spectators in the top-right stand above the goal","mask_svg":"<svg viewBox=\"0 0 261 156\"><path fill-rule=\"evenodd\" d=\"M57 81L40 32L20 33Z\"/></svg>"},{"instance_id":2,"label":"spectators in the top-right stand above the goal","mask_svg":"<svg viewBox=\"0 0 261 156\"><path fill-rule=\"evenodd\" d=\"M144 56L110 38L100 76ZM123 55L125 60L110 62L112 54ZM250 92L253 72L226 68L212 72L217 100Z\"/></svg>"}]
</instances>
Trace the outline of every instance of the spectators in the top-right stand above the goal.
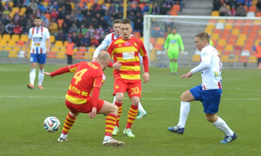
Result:
<instances>
[{"instance_id":1,"label":"spectators in the top-right stand above the goal","mask_svg":"<svg viewBox=\"0 0 261 156\"><path fill-rule=\"evenodd\" d=\"M251 5L252 0L214 0L212 10L219 11L220 16L246 16L246 8L249 9ZM256 9L257 12L261 11L261 0L258 0Z\"/></svg>"}]
</instances>

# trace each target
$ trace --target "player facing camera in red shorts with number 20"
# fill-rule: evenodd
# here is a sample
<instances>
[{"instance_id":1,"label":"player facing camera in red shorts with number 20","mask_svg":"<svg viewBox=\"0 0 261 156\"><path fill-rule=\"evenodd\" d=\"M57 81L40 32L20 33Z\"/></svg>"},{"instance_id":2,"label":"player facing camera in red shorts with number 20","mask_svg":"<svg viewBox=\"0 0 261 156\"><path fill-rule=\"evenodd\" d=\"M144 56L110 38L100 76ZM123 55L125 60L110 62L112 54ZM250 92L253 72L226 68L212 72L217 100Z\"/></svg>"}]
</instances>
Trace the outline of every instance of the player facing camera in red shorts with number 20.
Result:
<instances>
[{"instance_id":1,"label":"player facing camera in red shorts with number 20","mask_svg":"<svg viewBox=\"0 0 261 156\"><path fill-rule=\"evenodd\" d=\"M125 92L127 92L131 100L131 106L123 134L126 134L128 137L134 137L131 132L131 126L138 114L138 103L142 92L138 54L140 53L143 59L144 83L149 81L149 60L143 42L131 36L132 27L129 19L121 20L120 31L122 36L113 40L108 48L108 53L114 56L114 63L110 62L108 66L114 68L113 95L116 96L115 105L119 107L118 118L112 135L119 133L119 119L122 112L123 97Z\"/></svg>"}]
</instances>

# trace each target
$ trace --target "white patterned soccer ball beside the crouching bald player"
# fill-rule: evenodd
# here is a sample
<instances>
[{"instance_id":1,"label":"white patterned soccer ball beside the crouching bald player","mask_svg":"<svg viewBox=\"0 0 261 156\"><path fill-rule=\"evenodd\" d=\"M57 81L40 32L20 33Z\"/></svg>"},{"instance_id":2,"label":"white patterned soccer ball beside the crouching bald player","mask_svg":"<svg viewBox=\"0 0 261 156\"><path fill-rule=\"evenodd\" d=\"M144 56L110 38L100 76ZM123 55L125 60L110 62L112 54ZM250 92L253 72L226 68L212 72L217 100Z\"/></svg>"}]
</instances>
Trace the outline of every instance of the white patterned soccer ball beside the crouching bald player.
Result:
<instances>
[{"instance_id":1,"label":"white patterned soccer ball beside the crouching bald player","mask_svg":"<svg viewBox=\"0 0 261 156\"><path fill-rule=\"evenodd\" d=\"M56 132L60 127L60 121L51 116L51 117L48 117L44 120L44 129L47 131L47 132Z\"/></svg>"}]
</instances>

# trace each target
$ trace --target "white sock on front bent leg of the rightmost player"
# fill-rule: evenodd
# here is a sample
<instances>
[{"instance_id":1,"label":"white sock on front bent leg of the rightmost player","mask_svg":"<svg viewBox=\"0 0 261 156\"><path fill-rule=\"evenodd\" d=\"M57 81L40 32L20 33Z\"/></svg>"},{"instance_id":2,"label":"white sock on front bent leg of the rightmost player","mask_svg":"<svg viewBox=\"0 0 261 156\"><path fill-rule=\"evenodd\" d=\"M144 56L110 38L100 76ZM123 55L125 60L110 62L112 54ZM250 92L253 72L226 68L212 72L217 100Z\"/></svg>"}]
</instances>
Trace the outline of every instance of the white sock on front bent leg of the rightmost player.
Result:
<instances>
[{"instance_id":1,"label":"white sock on front bent leg of the rightmost player","mask_svg":"<svg viewBox=\"0 0 261 156\"><path fill-rule=\"evenodd\" d=\"M185 128L187 116L190 111L190 102L180 102L180 120L178 123L179 128Z\"/></svg>"}]
</instances>

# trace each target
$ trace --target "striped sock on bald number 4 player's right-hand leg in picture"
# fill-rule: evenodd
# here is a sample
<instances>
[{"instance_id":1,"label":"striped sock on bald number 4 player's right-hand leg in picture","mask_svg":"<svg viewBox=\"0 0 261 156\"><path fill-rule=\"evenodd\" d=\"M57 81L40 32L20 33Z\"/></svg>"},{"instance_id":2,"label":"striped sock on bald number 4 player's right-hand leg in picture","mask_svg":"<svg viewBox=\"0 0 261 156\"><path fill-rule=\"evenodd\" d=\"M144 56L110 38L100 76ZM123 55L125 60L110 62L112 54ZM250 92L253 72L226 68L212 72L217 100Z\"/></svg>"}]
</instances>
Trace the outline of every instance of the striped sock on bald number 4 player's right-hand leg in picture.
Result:
<instances>
[{"instance_id":1,"label":"striped sock on bald number 4 player's right-hand leg in picture","mask_svg":"<svg viewBox=\"0 0 261 156\"><path fill-rule=\"evenodd\" d=\"M112 136L113 129L116 124L116 118L117 116L114 114L108 114L105 119L105 136Z\"/></svg>"}]
</instances>

